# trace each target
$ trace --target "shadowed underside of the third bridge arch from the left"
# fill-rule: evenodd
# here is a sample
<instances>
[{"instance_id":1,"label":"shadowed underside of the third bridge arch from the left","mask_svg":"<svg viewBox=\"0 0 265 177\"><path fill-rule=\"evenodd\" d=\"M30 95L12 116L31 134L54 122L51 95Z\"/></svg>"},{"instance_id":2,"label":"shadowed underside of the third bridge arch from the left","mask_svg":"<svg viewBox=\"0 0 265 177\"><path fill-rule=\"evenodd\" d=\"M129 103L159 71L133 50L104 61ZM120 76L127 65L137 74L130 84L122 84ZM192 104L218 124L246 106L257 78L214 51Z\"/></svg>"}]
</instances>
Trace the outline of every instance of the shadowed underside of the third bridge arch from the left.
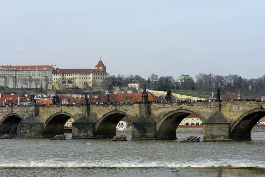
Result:
<instances>
[{"instance_id":1,"label":"shadowed underside of the third bridge arch from the left","mask_svg":"<svg viewBox=\"0 0 265 177\"><path fill-rule=\"evenodd\" d=\"M125 116L132 119L132 117L124 111L114 110L104 114L95 125L96 137L112 138L115 136L116 126Z\"/></svg>"}]
</instances>

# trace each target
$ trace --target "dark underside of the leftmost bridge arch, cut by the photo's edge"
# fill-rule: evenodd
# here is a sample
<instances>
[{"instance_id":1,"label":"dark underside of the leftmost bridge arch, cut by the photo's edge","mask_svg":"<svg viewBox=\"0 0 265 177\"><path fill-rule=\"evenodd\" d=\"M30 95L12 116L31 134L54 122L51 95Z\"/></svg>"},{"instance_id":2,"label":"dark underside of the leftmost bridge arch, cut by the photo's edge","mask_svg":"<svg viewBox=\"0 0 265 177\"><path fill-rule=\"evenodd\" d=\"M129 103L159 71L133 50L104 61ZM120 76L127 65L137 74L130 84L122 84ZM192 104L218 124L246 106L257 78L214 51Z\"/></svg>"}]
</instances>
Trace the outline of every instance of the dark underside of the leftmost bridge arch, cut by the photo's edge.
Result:
<instances>
[{"instance_id":1,"label":"dark underside of the leftmost bridge arch, cut by the photo's edge","mask_svg":"<svg viewBox=\"0 0 265 177\"><path fill-rule=\"evenodd\" d=\"M18 124L24 118L16 113L10 113L3 117L0 122L0 134L10 134L18 135Z\"/></svg>"}]
</instances>

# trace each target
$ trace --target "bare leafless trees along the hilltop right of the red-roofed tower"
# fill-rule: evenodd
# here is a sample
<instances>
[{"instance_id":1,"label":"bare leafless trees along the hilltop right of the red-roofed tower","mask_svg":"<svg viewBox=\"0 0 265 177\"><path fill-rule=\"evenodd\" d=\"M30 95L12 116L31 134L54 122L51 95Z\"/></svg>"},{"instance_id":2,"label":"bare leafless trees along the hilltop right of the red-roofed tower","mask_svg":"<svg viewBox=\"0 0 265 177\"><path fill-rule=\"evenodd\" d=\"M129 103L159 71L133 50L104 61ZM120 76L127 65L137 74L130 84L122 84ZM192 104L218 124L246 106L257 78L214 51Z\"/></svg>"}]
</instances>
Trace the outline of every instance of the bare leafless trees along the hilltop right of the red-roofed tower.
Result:
<instances>
[{"instance_id":1,"label":"bare leafless trees along the hilltop right of the red-roofed tower","mask_svg":"<svg viewBox=\"0 0 265 177\"><path fill-rule=\"evenodd\" d=\"M196 91L216 91L217 88L221 92L237 93L238 89L241 90L243 95L253 98L258 97L258 92L264 95L265 75L259 78L242 78L238 74L229 74L227 76L204 74L199 73L195 76L194 82L181 82L178 83L172 76L161 76L151 74L148 79L144 79L139 75L124 74L108 75L108 83L118 80L124 86L128 86L129 81L153 81L156 82L156 90L166 91L168 89L183 89L183 90L196 90Z\"/></svg>"}]
</instances>

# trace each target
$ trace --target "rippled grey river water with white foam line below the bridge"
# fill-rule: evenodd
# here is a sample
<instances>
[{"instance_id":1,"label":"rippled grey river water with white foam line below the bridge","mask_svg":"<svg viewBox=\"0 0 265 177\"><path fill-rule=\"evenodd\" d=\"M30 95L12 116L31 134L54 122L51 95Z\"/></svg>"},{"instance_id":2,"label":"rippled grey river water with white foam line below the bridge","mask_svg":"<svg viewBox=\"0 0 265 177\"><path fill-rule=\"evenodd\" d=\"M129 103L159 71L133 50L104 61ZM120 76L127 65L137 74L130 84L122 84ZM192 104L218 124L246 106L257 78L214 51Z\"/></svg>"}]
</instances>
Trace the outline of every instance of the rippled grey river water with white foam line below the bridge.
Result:
<instances>
[{"instance_id":1,"label":"rippled grey river water with white foam line below the bridge","mask_svg":"<svg viewBox=\"0 0 265 177\"><path fill-rule=\"evenodd\" d=\"M177 140L0 139L0 176L265 176L265 132L252 141L180 142L201 133L177 133ZM189 167L190 166L190 167Z\"/></svg>"}]
</instances>

